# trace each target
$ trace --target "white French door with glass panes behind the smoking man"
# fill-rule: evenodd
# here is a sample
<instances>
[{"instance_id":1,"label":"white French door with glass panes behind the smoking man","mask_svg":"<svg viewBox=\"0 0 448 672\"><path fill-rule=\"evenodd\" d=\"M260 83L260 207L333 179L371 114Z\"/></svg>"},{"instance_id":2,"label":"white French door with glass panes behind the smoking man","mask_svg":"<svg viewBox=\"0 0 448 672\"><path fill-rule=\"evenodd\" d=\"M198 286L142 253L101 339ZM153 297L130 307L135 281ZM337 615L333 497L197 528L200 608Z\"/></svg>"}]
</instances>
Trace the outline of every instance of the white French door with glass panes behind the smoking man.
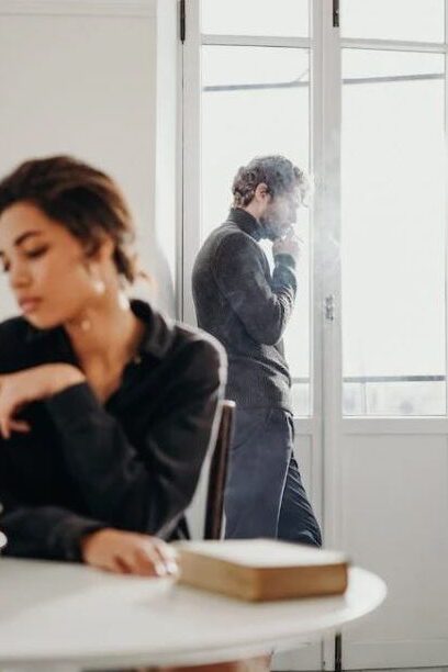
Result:
<instances>
[{"instance_id":1,"label":"white French door with glass panes behind the smoking man","mask_svg":"<svg viewBox=\"0 0 448 672\"><path fill-rule=\"evenodd\" d=\"M186 2L184 320L237 168L284 154L314 178L285 335L296 452L325 545L389 585L345 669L448 664L445 4ZM323 663L332 639L278 664Z\"/></svg>"}]
</instances>

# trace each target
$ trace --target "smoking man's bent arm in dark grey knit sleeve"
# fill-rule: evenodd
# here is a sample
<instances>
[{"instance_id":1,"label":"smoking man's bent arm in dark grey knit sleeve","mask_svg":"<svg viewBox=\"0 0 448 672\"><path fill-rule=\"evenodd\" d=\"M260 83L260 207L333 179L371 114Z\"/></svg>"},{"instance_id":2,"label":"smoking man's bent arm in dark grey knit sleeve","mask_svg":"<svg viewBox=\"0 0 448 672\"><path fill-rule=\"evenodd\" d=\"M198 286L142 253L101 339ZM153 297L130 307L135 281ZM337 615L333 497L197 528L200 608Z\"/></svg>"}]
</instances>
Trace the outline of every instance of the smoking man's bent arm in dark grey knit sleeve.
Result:
<instances>
[{"instance_id":1,"label":"smoking man's bent arm in dark grey knit sleeve","mask_svg":"<svg viewBox=\"0 0 448 672\"><path fill-rule=\"evenodd\" d=\"M294 306L295 261L291 255L276 255L270 280L265 261L255 240L233 234L221 242L213 271L249 336L273 345L280 340Z\"/></svg>"}]
</instances>

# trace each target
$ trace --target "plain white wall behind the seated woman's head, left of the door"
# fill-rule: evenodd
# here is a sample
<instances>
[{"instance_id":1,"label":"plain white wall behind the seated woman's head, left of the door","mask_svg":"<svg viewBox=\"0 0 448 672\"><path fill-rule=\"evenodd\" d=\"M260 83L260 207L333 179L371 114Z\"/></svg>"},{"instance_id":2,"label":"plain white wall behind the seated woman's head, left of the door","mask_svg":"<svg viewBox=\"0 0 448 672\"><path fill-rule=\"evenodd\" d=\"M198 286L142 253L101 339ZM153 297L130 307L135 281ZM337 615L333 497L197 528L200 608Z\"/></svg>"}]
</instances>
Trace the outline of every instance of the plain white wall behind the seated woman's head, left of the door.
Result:
<instances>
[{"instance_id":1,"label":"plain white wall behind the seated woman's head, left of the door","mask_svg":"<svg viewBox=\"0 0 448 672\"><path fill-rule=\"evenodd\" d=\"M0 176L25 158L68 153L115 177L137 224L142 261L156 279L156 301L170 314L176 4L0 0ZM12 312L2 280L0 318Z\"/></svg>"}]
</instances>

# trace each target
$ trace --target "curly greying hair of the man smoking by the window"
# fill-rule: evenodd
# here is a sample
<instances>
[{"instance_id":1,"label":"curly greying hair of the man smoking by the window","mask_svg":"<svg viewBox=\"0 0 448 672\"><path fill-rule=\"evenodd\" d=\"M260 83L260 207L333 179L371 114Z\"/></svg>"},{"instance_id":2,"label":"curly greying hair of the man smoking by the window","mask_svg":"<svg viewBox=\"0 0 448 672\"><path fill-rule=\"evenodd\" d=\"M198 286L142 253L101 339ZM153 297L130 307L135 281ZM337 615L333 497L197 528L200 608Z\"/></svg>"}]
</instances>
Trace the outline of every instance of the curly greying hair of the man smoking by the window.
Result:
<instances>
[{"instance_id":1,"label":"curly greying hair of the man smoking by the window","mask_svg":"<svg viewBox=\"0 0 448 672\"><path fill-rule=\"evenodd\" d=\"M310 187L305 172L284 156L257 156L247 166L238 168L232 184L234 206L248 205L261 183L267 186L272 199L299 188L302 201Z\"/></svg>"}]
</instances>

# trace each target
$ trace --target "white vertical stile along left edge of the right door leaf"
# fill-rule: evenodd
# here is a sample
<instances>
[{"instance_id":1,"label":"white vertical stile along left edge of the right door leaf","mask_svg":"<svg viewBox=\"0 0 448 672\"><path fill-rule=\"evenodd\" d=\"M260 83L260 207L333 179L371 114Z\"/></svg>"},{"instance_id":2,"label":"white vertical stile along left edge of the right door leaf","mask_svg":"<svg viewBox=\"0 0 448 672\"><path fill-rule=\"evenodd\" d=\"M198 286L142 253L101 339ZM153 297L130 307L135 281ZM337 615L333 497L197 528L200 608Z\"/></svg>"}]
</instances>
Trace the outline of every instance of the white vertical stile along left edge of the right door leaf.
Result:
<instances>
[{"instance_id":1,"label":"white vertical stile along left edge of the right door leaf","mask_svg":"<svg viewBox=\"0 0 448 672\"><path fill-rule=\"evenodd\" d=\"M314 4L314 2L313 2ZM325 542L340 544L340 421L341 421L341 338L340 338L340 38L333 25L332 2L320 0L321 35L315 49L322 51L322 156L317 175L322 194L316 223L316 273L322 277L321 302L316 322L322 331L322 430L323 430L323 522ZM333 295L334 320L325 318L325 298ZM324 660L334 662L334 640L324 642Z\"/></svg>"}]
</instances>

